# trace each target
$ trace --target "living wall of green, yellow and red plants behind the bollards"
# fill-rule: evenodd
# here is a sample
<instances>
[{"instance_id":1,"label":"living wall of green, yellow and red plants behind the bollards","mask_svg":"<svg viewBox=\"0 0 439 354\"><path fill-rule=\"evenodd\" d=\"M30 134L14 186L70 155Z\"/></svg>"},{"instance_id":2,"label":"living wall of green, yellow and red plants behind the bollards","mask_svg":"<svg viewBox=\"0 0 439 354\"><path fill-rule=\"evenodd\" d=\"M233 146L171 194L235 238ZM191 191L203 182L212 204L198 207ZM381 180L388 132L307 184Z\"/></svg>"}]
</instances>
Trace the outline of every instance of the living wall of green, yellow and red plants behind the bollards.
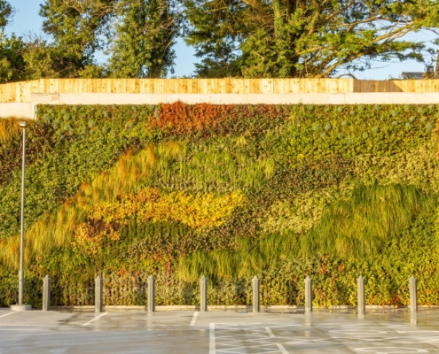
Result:
<instances>
[{"instance_id":1,"label":"living wall of green, yellow and red plants behind the bollards","mask_svg":"<svg viewBox=\"0 0 439 354\"><path fill-rule=\"evenodd\" d=\"M26 301L439 303L436 105L39 106L27 144ZM2 126L3 124L3 126ZM17 297L20 132L0 124L0 303ZM3 132L3 133L2 133Z\"/></svg>"}]
</instances>

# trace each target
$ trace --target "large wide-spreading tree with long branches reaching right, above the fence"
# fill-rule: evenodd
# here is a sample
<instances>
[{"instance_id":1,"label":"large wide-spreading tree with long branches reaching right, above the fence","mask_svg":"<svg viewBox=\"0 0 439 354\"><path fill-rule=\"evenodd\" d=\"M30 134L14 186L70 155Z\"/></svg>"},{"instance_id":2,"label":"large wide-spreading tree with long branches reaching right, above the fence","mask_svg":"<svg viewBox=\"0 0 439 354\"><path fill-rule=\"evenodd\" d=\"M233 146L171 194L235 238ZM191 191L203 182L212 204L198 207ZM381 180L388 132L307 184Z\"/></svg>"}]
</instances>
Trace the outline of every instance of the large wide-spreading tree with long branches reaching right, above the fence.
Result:
<instances>
[{"instance_id":1,"label":"large wide-spreading tree with long branches reaching right, above the fence","mask_svg":"<svg viewBox=\"0 0 439 354\"><path fill-rule=\"evenodd\" d=\"M423 61L425 44L403 38L438 27L439 4L435 0L187 0L186 16L185 40L204 58L197 67L200 76L326 77L341 67L364 70L377 58ZM229 66L235 68L230 71Z\"/></svg>"}]
</instances>

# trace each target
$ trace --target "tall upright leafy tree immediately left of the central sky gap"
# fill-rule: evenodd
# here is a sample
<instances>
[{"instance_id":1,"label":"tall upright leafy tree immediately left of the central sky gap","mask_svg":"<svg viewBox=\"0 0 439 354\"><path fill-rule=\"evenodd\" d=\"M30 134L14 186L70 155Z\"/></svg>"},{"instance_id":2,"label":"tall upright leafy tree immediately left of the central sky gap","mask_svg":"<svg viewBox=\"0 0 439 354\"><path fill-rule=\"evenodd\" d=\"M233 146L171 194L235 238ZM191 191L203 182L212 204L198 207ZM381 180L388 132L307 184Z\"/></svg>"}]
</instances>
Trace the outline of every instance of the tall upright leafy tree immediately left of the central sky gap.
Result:
<instances>
[{"instance_id":1,"label":"tall upright leafy tree immediately left of the central sky gap","mask_svg":"<svg viewBox=\"0 0 439 354\"><path fill-rule=\"evenodd\" d=\"M168 0L121 1L114 41L109 47L108 76L164 77L173 73L178 16Z\"/></svg>"}]
</instances>

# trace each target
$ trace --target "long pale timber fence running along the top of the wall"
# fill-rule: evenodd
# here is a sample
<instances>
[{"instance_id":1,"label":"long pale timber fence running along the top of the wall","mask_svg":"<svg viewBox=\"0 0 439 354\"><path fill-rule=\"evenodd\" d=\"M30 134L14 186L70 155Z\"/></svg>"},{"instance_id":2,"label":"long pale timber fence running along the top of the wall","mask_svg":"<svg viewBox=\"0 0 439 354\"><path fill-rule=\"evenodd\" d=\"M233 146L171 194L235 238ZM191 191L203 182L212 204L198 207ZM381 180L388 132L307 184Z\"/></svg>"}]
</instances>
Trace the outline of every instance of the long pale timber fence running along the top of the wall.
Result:
<instances>
[{"instance_id":1,"label":"long pale timber fence running along the top of the wall","mask_svg":"<svg viewBox=\"0 0 439 354\"><path fill-rule=\"evenodd\" d=\"M31 94L290 94L439 92L439 80L353 79L42 79L0 85L0 102L30 102Z\"/></svg>"}]
</instances>

